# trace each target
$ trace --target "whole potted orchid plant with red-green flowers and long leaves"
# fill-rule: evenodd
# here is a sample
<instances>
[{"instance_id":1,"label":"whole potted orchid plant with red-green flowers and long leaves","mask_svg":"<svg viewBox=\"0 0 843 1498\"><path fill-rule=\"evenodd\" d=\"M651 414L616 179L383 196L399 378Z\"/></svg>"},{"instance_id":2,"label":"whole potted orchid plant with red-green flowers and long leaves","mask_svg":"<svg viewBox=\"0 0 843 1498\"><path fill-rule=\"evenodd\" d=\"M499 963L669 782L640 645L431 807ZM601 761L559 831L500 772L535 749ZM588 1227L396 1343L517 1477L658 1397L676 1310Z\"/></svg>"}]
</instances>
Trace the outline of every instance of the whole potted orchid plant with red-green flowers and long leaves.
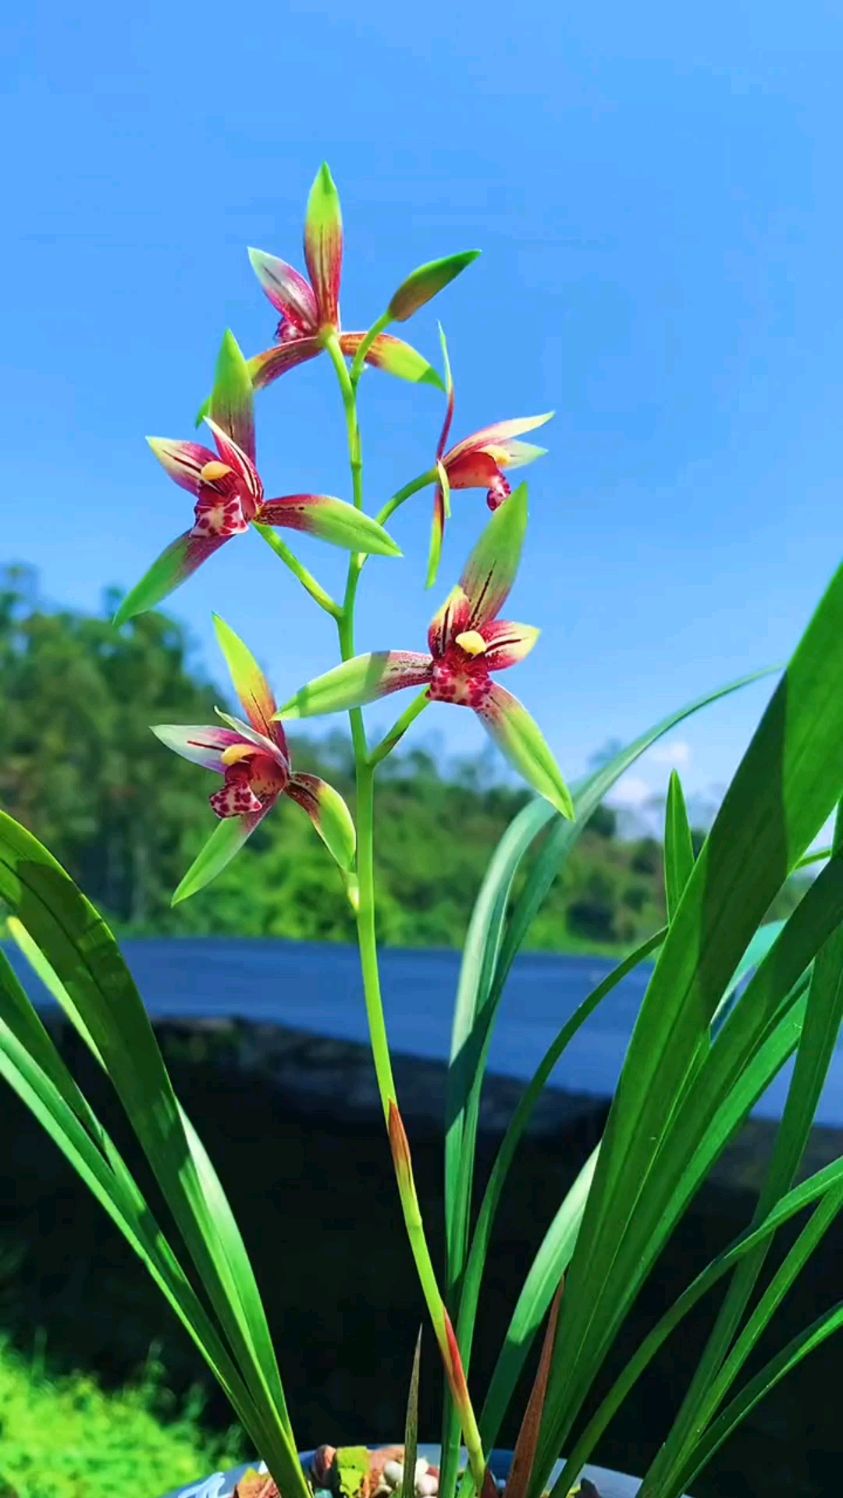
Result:
<instances>
[{"instance_id":1,"label":"whole potted orchid plant with red-green flowers and long leaves","mask_svg":"<svg viewBox=\"0 0 843 1498\"><path fill-rule=\"evenodd\" d=\"M506 470L542 455L542 448L521 437L542 427L550 415L500 421L449 448L454 380L445 337L439 376L421 354L386 331L425 307L472 264L476 252L422 265L371 327L343 333L343 226L337 189L323 166L307 205L308 279L273 255L252 250L250 258L280 316L276 343L246 358L226 333L211 397L201 412L214 448L150 439L168 475L192 496L193 518L127 595L115 625L154 608L234 536L253 530L334 620L340 661L295 691L292 683L279 683L276 697L247 646L216 619L243 718L220 712L219 722L210 725L154 727L166 748L216 776L210 812L217 822L174 902L204 890L281 797L310 818L337 869L356 920L371 1053L407 1240L445 1374L442 1467L434 1485L442 1498L454 1498L458 1486L460 1498L488 1492L490 1453L542 1326L544 1342L508 1495L539 1498L551 1485L553 1498L594 1492L582 1480L582 1467L615 1410L683 1317L708 1288L728 1278L678 1417L641 1486L644 1498L680 1498L758 1399L843 1324L843 1305L837 1305L740 1383L779 1302L843 1206L842 1161L794 1185L843 1014L843 815L831 846L810 852L843 798L843 569L782 674L696 855L681 785L672 777L665 821L666 926L602 980L562 1026L524 1091L476 1207L475 1152L491 1035L508 974L542 899L588 818L629 765L677 722L758 677L731 683L672 713L569 789L532 715L496 680L538 640L533 626L499 617L517 578L529 514L527 488L512 491ZM255 391L322 354L334 367L344 412L350 500L322 493L265 499L256 466ZM365 366L440 389L446 400L439 440L431 440L430 469L404 484L377 515L365 509L358 413ZM385 527L425 488L433 490L434 505L428 586L445 560L452 491L485 490L491 517L433 617L428 649L395 649L392 640L382 640L377 649L359 653L355 608L364 568L371 556L398 565L400 548ZM329 595L279 535L284 529L347 550L341 599ZM222 562L214 565L222 577ZM412 569L412 563L403 566ZM415 695L409 706L382 739L371 742L362 709L410 688ZM430 1246L391 1064L379 972L374 849L377 770L431 703L476 713L509 764L538 792L490 863L466 939L448 1070L442 1266ZM356 767L353 813L325 780L293 770L286 739L284 724L335 712L349 713ZM777 891L804 863L824 867L786 923L767 921ZM117 944L67 873L30 831L3 813L0 897L12 911L9 933L114 1083L160 1188L171 1218L166 1230L76 1088L1 951L0 1071L144 1260L284 1498L308 1498L313 1488L337 1483L343 1494L373 1498L391 1482L401 1486L403 1498L412 1498L418 1357L400 1462L386 1456L370 1462L365 1452L353 1461L334 1461L337 1453L331 1456L332 1449L322 1447L314 1465L302 1468L241 1234L174 1094ZM645 959L654 959L654 966L603 1141L582 1162L547 1228L485 1399L478 1405L472 1347L484 1266L518 1144L578 1029ZM596 1402L594 1383L662 1246L711 1165L794 1055L794 1079L752 1222L687 1285ZM801 1233L758 1293L773 1236L797 1213L804 1218ZM560 1467L563 1450L567 1461ZM416 1492L425 1498L433 1492L430 1474L422 1476Z\"/></svg>"}]
</instances>

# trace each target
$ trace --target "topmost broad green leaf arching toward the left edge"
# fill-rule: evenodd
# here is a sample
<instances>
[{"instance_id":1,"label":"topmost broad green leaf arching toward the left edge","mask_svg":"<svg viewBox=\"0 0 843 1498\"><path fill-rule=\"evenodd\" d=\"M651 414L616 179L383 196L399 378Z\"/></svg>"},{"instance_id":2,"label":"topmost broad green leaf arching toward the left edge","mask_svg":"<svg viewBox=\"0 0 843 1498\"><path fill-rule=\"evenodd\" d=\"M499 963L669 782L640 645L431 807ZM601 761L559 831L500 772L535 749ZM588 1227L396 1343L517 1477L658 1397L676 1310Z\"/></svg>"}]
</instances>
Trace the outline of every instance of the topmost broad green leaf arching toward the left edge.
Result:
<instances>
[{"instance_id":1,"label":"topmost broad green leaf arching toward the left edge","mask_svg":"<svg viewBox=\"0 0 843 1498\"><path fill-rule=\"evenodd\" d=\"M195 1134L186 1126L135 983L105 921L69 875L25 828L0 812L0 897L18 915L82 1019L262 1420L271 1428L267 1464L304 1498L279 1368L243 1239Z\"/></svg>"}]
</instances>

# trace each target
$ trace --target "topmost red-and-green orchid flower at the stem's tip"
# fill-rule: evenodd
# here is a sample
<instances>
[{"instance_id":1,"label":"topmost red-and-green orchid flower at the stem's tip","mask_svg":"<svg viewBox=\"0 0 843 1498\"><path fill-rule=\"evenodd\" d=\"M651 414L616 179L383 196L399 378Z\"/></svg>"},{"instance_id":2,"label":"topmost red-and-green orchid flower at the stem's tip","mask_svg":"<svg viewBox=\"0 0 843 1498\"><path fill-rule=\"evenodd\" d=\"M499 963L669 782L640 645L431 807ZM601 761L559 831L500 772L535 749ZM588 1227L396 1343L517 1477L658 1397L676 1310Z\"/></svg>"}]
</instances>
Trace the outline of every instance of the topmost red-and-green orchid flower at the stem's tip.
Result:
<instances>
[{"instance_id":1,"label":"topmost red-and-green orchid flower at the stem's tip","mask_svg":"<svg viewBox=\"0 0 843 1498\"><path fill-rule=\"evenodd\" d=\"M331 334L338 334L340 348L353 358L365 333L340 331L340 280L343 273L343 216L340 195L326 165L316 174L304 220L304 259L308 277L265 250L249 250L249 259L262 289L280 313L276 330L276 345L255 355L249 370L256 389L271 385L279 374L286 374L296 364L316 358ZM424 268L427 270L427 267ZM419 303L406 297L407 304ZM409 316L403 303L394 316L403 321ZM380 333L365 354L365 363L386 370L400 379L422 385L437 385L442 380L421 354L401 339Z\"/></svg>"}]
</instances>

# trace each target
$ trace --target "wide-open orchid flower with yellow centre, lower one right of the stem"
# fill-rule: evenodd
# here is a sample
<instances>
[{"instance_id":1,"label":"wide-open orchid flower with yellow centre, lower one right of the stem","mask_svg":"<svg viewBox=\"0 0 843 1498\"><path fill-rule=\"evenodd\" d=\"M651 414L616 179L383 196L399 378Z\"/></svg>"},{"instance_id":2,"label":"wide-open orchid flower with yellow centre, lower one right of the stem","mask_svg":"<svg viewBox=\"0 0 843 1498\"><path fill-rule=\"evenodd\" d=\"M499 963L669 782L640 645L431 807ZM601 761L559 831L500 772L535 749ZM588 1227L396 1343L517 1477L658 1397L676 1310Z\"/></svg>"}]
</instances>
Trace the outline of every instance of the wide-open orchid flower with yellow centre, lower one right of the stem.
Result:
<instances>
[{"instance_id":1,"label":"wide-open orchid flower with yellow centre, lower one right of the stem","mask_svg":"<svg viewBox=\"0 0 843 1498\"><path fill-rule=\"evenodd\" d=\"M570 791L538 724L493 680L493 673L523 661L539 637L530 625L497 617L515 581L526 529L527 487L521 484L493 514L458 586L433 619L428 655L380 650L355 656L302 686L279 716L334 713L404 686L425 688L431 703L470 707L524 779L563 816L573 816Z\"/></svg>"}]
</instances>

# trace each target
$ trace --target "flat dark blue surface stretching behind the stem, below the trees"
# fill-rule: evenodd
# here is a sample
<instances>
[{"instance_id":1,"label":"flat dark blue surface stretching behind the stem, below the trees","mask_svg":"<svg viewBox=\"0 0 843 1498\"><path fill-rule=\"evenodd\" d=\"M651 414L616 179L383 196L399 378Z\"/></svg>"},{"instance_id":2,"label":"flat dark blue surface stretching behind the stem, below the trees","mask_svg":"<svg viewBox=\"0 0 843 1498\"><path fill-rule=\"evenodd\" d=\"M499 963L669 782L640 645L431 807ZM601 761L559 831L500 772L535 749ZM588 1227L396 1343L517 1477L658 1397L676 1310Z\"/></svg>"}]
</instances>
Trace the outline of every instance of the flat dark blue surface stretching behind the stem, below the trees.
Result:
<instances>
[{"instance_id":1,"label":"flat dark blue surface stretching behind the stem, below the trees","mask_svg":"<svg viewBox=\"0 0 843 1498\"><path fill-rule=\"evenodd\" d=\"M166 938L127 941L123 951L153 1017L238 1016L335 1040L367 1040L358 957L352 947ZM16 963L16 954L10 956ZM520 957L503 998L491 1070L527 1080L567 1016L612 966L602 957ZM556 1086L600 1097L612 1092L650 971L651 966L642 963L588 1019L554 1074ZM434 1061L448 1056L458 974L460 954L454 951L382 953L386 1019L395 1052ZM756 1113L779 1115L788 1076L777 1077ZM840 1047L818 1122L843 1124Z\"/></svg>"}]
</instances>

